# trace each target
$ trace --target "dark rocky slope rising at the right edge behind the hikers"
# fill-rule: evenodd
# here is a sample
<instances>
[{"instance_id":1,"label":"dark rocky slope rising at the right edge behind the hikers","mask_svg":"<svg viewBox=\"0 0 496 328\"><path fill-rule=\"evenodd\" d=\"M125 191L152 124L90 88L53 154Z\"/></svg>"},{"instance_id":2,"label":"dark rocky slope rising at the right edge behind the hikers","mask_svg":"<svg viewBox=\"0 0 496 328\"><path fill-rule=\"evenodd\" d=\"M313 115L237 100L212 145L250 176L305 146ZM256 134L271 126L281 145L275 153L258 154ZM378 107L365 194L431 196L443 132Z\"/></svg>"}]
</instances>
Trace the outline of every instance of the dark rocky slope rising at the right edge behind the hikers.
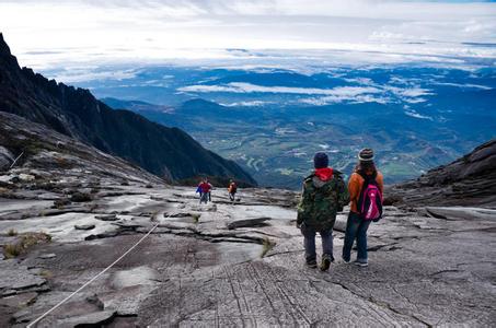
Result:
<instances>
[{"instance_id":1,"label":"dark rocky slope rising at the right edge behind the hikers","mask_svg":"<svg viewBox=\"0 0 496 328\"><path fill-rule=\"evenodd\" d=\"M393 186L391 194L416 206L496 207L496 139L451 164Z\"/></svg>"}]
</instances>

